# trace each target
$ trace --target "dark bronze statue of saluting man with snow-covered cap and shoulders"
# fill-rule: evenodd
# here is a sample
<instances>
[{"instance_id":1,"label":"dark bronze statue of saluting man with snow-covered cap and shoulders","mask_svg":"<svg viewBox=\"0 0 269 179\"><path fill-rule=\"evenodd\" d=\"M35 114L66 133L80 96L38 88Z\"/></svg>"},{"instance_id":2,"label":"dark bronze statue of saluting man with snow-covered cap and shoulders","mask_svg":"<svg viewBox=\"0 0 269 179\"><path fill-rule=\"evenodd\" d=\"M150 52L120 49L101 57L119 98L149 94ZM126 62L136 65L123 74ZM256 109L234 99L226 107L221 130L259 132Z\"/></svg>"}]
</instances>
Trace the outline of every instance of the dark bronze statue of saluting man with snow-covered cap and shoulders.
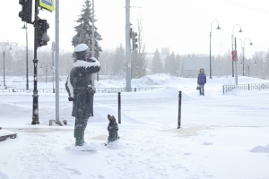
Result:
<instances>
[{"instance_id":1,"label":"dark bronze statue of saluting man with snow-covered cap and shoulders","mask_svg":"<svg viewBox=\"0 0 269 179\"><path fill-rule=\"evenodd\" d=\"M69 101L73 101L72 116L75 117L75 146L84 143L84 131L90 116L93 116L93 95L91 73L100 71L100 63L95 57L89 57L87 45L79 44L74 48L75 61L65 82Z\"/></svg>"}]
</instances>

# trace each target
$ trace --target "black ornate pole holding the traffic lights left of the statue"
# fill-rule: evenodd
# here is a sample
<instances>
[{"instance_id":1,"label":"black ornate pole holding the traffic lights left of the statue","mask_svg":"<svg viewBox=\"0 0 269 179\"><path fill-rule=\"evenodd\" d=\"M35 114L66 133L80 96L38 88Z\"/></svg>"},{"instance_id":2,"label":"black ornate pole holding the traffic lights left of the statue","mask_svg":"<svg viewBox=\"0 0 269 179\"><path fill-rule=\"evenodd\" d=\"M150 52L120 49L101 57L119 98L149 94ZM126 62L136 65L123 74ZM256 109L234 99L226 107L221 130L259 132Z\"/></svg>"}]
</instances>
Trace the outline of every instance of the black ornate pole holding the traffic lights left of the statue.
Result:
<instances>
[{"instance_id":1,"label":"black ornate pole holding the traffic lights left of the statue","mask_svg":"<svg viewBox=\"0 0 269 179\"><path fill-rule=\"evenodd\" d=\"M35 21L34 21L34 90L33 90L33 100L32 100L32 122L31 124L39 124L39 94L38 94L38 0L35 0Z\"/></svg>"}]
</instances>

